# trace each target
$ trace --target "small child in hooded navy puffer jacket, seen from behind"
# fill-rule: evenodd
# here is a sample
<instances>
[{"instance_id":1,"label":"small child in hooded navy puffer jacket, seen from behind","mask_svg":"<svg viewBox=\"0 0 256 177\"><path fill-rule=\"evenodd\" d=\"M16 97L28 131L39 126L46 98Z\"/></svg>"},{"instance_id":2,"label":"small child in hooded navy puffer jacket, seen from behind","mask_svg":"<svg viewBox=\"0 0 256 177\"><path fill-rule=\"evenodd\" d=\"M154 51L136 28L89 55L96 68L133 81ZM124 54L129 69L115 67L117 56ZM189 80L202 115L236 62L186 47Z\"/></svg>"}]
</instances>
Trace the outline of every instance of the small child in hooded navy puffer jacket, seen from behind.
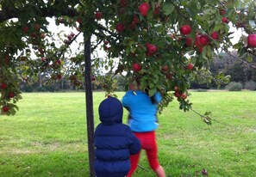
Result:
<instances>
[{"instance_id":1,"label":"small child in hooded navy puffer jacket, seen from behind","mask_svg":"<svg viewBox=\"0 0 256 177\"><path fill-rule=\"evenodd\" d=\"M122 103L108 97L98 107L101 123L94 134L97 177L124 177L131 168L130 155L140 151L140 141L122 124Z\"/></svg>"}]
</instances>

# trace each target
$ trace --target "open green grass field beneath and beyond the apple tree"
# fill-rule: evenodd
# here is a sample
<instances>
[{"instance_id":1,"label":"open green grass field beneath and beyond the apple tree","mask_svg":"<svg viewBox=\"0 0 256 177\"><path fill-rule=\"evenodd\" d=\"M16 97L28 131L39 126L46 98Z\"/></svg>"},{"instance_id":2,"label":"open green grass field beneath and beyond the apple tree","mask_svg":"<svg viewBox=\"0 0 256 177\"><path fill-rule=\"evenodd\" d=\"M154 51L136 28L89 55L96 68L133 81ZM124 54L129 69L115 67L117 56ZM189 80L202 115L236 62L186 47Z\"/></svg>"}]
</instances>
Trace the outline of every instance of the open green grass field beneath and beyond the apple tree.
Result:
<instances>
[{"instance_id":1,"label":"open green grass field beneath and beyond the apple tree","mask_svg":"<svg viewBox=\"0 0 256 177\"><path fill-rule=\"evenodd\" d=\"M123 92L117 93L122 98ZM0 117L0 176L89 176L84 93L23 94L15 116ZM104 93L94 93L97 107ZM256 176L256 92L191 92L193 108L173 101L159 115L159 161L167 176ZM124 113L126 122L128 113ZM134 177L153 177L145 153Z\"/></svg>"}]
</instances>

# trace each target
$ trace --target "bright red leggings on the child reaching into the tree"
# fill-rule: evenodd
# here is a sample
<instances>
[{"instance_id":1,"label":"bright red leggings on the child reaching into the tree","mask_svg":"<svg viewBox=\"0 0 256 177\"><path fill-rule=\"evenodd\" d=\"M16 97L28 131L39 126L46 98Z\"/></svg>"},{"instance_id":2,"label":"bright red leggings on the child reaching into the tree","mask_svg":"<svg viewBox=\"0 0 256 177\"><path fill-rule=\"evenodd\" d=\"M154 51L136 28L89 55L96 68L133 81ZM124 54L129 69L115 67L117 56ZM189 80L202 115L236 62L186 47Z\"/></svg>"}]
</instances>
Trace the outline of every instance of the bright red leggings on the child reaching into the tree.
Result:
<instances>
[{"instance_id":1,"label":"bright red leggings on the child reaching into the tree","mask_svg":"<svg viewBox=\"0 0 256 177\"><path fill-rule=\"evenodd\" d=\"M159 168L158 148L156 143L155 131L134 132L134 135L140 139L141 149L146 150L149 165L155 171L157 168ZM131 169L128 173L128 177L132 176L135 169L138 167L139 159L140 152L136 155L130 156Z\"/></svg>"}]
</instances>

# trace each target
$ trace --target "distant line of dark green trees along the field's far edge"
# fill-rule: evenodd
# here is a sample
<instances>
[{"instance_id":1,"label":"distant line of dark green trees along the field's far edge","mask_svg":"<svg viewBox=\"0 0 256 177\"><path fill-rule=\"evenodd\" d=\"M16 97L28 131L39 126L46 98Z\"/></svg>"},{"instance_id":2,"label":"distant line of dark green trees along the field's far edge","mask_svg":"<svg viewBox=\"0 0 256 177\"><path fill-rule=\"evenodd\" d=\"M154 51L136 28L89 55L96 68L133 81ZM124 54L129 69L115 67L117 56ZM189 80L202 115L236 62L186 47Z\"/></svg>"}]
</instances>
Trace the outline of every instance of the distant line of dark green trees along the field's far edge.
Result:
<instances>
[{"instance_id":1,"label":"distant line of dark green trees along the field's far edge","mask_svg":"<svg viewBox=\"0 0 256 177\"><path fill-rule=\"evenodd\" d=\"M238 60L240 58L236 51L231 52L232 55L228 53L220 53L217 57L213 58L209 64L209 71L213 75L218 75L223 73L225 76L230 76L230 82L240 82L243 88L250 88L254 82L256 83L256 70L252 70L247 64L243 64L242 61ZM250 64L256 64L256 58L250 61ZM49 79L49 75L39 73L37 77L28 78L25 77L20 82L20 87L23 92L56 92L56 91L82 91L84 90L84 82L76 81L72 77L58 78L55 80ZM114 76L114 75L113 75ZM116 79L116 91L124 91L126 79L122 75L114 76ZM104 85L101 80L97 80L97 76L91 77L92 88L95 91L104 90ZM225 88L228 83L222 83L218 87L215 82L207 82L205 79L196 79L191 82L190 88L192 89L216 89ZM255 89L254 87L252 89Z\"/></svg>"}]
</instances>

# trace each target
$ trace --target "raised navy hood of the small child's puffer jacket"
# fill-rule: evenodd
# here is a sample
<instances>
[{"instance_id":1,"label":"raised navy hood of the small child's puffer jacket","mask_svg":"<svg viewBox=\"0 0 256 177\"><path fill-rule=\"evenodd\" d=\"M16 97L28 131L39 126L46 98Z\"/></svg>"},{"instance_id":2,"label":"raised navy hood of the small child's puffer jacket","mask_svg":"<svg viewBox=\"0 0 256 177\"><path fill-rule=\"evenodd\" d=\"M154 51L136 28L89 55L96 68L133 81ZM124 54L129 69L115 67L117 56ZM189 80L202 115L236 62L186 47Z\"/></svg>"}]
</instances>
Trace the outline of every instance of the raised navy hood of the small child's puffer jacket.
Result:
<instances>
[{"instance_id":1,"label":"raised navy hood of the small child's puffer jacket","mask_svg":"<svg viewBox=\"0 0 256 177\"><path fill-rule=\"evenodd\" d=\"M115 97L108 97L98 107L100 120L104 125L122 123L122 103Z\"/></svg>"}]
</instances>

